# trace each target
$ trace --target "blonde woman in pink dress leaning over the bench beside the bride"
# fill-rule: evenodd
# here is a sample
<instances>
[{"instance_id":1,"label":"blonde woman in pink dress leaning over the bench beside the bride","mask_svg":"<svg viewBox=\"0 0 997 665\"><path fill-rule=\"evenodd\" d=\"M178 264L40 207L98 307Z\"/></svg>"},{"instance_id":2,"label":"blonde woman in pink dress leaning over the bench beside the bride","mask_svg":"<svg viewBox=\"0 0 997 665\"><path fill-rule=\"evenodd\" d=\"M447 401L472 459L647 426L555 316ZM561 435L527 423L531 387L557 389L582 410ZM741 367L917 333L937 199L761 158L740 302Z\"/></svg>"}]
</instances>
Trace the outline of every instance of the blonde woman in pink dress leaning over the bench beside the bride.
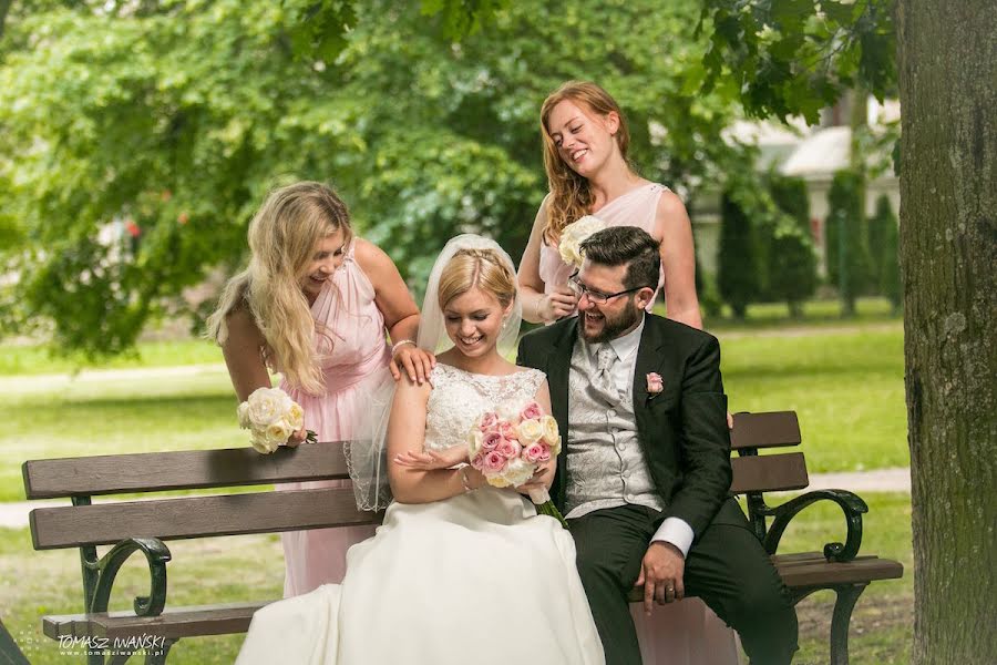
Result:
<instances>
[{"instance_id":1,"label":"blonde woman in pink dress leaning over the bench beside the bride","mask_svg":"<svg viewBox=\"0 0 997 665\"><path fill-rule=\"evenodd\" d=\"M419 309L388 255L353 236L331 188L302 182L273 192L249 224L249 266L225 287L208 334L240 401L270 386L268 368L280 371L280 388L305 410L305 428L288 444L309 429L320 442L346 441L377 386L402 371L426 380L435 359L415 347ZM371 526L281 534L284 595L342 581L347 550L371 535Z\"/></svg>"}]
</instances>

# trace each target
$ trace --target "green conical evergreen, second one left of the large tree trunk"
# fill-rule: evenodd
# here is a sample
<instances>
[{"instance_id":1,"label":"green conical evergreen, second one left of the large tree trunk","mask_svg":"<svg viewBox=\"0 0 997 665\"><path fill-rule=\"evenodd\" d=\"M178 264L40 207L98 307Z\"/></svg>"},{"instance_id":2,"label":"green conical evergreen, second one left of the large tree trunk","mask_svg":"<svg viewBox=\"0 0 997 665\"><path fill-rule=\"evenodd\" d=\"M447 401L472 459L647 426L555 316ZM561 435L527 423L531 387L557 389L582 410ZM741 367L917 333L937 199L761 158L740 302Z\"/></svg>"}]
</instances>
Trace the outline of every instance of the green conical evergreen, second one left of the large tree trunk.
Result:
<instances>
[{"instance_id":1,"label":"green conical evergreen, second one left of the large tree trunk","mask_svg":"<svg viewBox=\"0 0 997 665\"><path fill-rule=\"evenodd\" d=\"M837 286L842 314L855 314L855 299L870 284L867 225L859 198L861 176L839 171L828 192L828 274Z\"/></svg>"}]
</instances>

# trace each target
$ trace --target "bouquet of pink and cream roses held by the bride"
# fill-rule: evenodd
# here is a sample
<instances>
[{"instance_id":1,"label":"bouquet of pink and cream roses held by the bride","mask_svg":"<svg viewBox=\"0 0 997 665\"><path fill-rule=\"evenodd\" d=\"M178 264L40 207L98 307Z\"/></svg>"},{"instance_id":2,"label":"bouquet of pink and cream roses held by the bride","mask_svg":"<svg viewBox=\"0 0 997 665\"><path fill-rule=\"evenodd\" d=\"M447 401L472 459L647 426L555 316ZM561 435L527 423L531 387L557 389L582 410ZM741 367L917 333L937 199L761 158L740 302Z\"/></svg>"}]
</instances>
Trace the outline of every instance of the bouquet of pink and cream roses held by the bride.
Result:
<instances>
[{"instance_id":1,"label":"bouquet of pink and cream roses held by the bride","mask_svg":"<svg viewBox=\"0 0 997 665\"><path fill-rule=\"evenodd\" d=\"M506 401L477 417L467 434L467 451L471 467L490 485L518 487L533 478L539 464L557 457L561 433L557 421L535 401ZM530 499L537 514L549 515L567 529L546 489L531 490Z\"/></svg>"}]
</instances>

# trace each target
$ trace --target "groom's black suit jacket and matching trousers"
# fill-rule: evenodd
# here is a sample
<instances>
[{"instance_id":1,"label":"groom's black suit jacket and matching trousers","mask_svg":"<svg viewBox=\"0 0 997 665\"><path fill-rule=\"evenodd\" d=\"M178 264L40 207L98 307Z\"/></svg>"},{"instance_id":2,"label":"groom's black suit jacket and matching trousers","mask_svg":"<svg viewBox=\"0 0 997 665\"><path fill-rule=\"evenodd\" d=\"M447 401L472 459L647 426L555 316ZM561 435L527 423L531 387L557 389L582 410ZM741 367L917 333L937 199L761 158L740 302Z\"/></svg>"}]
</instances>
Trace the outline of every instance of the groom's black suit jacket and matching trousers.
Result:
<instances>
[{"instance_id":1,"label":"groom's black suit jacket and matching trousers","mask_svg":"<svg viewBox=\"0 0 997 665\"><path fill-rule=\"evenodd\" d=\"M571 449L568 378L577 319L534 330L520 342L518 364L546 372L551 406ZM645 377L665 388L649 395ZM796 651L796 614L789 593L737 502L729 498L730 440L717 340L695 328L645 316L631 389L638 440L665 511L636 504L568 520L578 572L607 665L640 665L627 596L658 526L667 516L693 531L682 581L741 636L752 665L783 665ZM564 509L572 483L557 460L552 494Z\"/></svg>"}]
</instances>

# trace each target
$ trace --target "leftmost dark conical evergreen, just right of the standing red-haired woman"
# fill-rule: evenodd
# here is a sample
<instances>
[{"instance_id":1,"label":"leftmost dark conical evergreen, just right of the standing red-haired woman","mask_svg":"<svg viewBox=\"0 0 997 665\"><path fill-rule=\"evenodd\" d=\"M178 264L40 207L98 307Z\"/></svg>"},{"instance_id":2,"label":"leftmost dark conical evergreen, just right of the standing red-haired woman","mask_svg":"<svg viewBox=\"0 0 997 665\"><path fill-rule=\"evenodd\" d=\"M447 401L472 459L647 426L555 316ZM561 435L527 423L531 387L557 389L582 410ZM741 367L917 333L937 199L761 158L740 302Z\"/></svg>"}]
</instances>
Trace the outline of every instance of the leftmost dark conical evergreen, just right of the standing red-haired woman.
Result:
<instances>
[{"instance_id":1,"label":"leftmost dark conical evergreen, just right of the standing red-haired woman","mask_svg":"<svg viewBox=\"0 0 997 665\"><path fill-rule=\"evenodd\" d=\"M732 196L720 202L720 246L717 287L734 317L743 319L748 305L758 300L759 262L751 218Z\"/></svg>"}]
</instances>

